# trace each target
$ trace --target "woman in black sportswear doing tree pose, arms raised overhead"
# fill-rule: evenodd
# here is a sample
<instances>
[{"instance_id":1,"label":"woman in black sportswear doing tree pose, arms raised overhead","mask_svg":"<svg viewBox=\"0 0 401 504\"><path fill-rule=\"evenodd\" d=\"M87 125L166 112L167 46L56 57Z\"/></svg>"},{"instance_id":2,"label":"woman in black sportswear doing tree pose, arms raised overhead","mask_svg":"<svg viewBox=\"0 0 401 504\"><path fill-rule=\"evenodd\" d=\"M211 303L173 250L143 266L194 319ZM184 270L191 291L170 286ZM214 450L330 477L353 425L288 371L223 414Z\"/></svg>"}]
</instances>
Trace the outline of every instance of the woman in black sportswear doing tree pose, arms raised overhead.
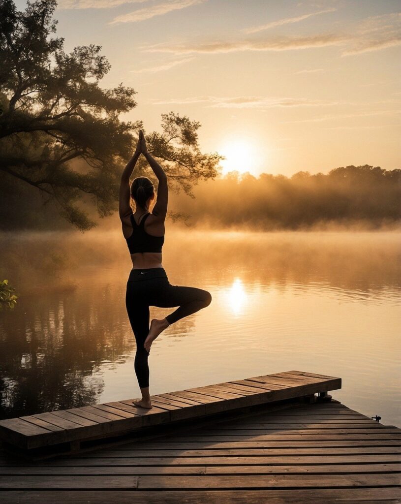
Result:
<instances>
[{"instance_id":1,"label":"woman in black sportswear doing tree pose, arms raised overhead","mask_svg":"<svg viewBox=\"0 0 401 504\"><path fill-rule=\"evenodd\" d=\"M152 181L148 177L137 177L129 186L129 177L141 153L159 180L157 201L152 213L149 212L150 203L155 198ZM132 213L130 206L131 198L136 203L135 213ZM208 306L212 301L211 294L206 290L171 285L168 280L162 266L167 200L167 176L147 151L141 130L137 149L121 176L119 214L122 232L132 259L125 305L137 342L135 372L142 393L142 399L134 401L133 404L147 409L152 408L149 395L148 356L153 341L169 325ZM164 319L153 319L149 328L149 306L162 308L178 306L178 308Z\"/></svg>"}]
</instances>

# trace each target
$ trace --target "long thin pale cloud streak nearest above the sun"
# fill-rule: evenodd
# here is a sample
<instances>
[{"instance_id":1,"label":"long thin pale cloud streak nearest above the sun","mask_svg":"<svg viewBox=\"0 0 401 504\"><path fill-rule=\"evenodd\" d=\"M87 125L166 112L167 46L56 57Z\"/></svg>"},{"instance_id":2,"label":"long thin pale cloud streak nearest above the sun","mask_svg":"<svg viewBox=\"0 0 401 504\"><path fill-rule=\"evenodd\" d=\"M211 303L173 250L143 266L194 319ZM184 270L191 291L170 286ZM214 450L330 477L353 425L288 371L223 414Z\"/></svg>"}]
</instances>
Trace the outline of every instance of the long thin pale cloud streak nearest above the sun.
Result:
<instances>
[{"instance_id":1,"label":"long thin pale cloud streak nearest above the sun","mask_svg":"<svg viewBox=\"0 0 401 504\"><path fill-rule=\"evenodd\" d=\"M171 98L169 100L150 100L153 105L180 104L188 105L192 103L209 103L210 108L257 108L266 109L273 107L302 107L302 106L322 106L337 105L337 102L324 100L310 100L308 98L271 97L271 96L194 96L189 98Z\"/></svg>"}]
</instances>

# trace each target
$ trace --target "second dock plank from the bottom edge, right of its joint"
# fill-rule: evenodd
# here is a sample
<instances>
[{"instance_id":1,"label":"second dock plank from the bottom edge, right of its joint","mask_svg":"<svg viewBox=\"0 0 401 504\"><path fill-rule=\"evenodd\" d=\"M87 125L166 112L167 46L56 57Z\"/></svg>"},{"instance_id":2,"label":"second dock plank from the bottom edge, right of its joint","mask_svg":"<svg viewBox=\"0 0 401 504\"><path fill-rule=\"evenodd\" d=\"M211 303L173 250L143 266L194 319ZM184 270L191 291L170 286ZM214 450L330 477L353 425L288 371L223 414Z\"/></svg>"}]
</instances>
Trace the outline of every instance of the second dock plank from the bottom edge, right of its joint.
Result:
<instances>
[{"instance_id":1,"label":"second dock plank from the bottom edge, right of its joint","mask_svg":"<svg viewBox=\"0 0 401 504\"><path fill-rule=\"evenodd\" d=\"M122 478L122 476L121 476ZM112 482L112 481L111 481ZM111 483L110 482L110 483ZM241 475L241 476L139 476L138 488L144 489L194 489L194 488L332 488L336 486L364 487L399 485L394 474L313 474Z\"/></svg>"}]
</instances>

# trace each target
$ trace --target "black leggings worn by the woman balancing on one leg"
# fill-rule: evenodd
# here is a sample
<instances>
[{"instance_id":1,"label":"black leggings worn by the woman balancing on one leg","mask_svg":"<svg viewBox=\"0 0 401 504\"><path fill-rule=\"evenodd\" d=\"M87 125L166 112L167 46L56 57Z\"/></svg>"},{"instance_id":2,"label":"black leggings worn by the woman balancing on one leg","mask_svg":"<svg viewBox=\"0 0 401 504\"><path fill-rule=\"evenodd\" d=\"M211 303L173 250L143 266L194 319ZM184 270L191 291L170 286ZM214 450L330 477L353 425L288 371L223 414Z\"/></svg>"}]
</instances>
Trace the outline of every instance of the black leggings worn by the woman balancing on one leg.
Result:
<instances>
[{"instance_id":1,"label":"black leggings worn by the woman balancing on one leg","mask_svg":"<svg viewBox=\"0 0 401 504\"><path fill-rule=\"evenodd\" d=\"M164 268L132 269L126 287L125 306L137 342L135 372L140 388L149 387L149 353L144 348L149 333L149 306L178 308L167 315L169 324L205 308L212 301L210 292L196 287L171 285Z\"/></svg>"}]
</instances>

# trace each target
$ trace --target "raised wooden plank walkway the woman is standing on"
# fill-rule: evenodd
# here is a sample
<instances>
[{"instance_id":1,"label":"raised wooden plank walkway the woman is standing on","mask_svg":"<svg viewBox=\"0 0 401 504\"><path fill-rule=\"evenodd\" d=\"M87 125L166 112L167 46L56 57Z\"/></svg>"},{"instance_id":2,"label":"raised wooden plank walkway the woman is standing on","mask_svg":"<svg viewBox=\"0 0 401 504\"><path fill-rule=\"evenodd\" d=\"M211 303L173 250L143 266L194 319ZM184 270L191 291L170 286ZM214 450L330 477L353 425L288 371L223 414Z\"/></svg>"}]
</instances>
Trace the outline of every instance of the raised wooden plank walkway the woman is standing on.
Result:
<instances>
[{"instance_id":1,"label":"raised wooden plank walkway the woman is standing on","mask_svg":"<svg viewBox=\"0 0 401 504\"><path fill-rule=\"evenodd\" d=\"M340 378L288 371L155 395L151 410L127 399L1 420L0 439L34 456L71 453L94 439L340 388Z\"/></svg>"}]
</instances>

